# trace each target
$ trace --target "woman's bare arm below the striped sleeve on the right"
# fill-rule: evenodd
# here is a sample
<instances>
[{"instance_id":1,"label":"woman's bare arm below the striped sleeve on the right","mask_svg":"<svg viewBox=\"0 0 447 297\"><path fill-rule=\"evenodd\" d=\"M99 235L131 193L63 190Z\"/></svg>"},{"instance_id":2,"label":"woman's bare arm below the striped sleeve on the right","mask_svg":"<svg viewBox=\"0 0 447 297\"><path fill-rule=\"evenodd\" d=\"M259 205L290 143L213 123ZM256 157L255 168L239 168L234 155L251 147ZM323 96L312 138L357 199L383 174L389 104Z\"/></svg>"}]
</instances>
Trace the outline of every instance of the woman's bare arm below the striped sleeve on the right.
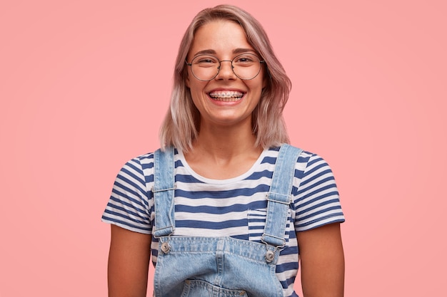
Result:
<instances>
[{"instance_id":1,"label":"woman's bare arm below the striped sleeve on the right","mask_svg":"<svg viewBox=\"0 0 447 297\"><path fill-rule=\"evenodd\" d=\"M304 297L342 297L344 256L340 224L296 233Z\"/></svg>"}]
</instances>

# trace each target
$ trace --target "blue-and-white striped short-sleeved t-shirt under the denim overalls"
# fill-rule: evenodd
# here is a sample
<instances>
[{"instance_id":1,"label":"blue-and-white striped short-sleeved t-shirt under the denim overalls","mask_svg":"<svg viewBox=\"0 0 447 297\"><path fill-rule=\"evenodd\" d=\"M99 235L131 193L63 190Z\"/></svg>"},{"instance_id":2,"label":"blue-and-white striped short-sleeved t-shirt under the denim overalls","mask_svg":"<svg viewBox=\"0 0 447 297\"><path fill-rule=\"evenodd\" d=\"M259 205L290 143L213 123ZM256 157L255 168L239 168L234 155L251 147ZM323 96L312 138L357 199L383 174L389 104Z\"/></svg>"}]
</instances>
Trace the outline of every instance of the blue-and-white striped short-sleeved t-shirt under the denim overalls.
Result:
<instances>
[{"instance_id":1,"label":"blue-and-white striped short-sleeved t-shirt under the denim overalls","mask_svg":"<svg viewBox=\"0 0 447 297\"><path fill-rule=\"evenodd\" d=\"M267 201L279 147L263 150L248 172L231 179L207 179L189 167L175 150L175 225L173 236L231 236L261 242ZM154 226L154 154L130 160L119 172L102 216L104 222L144 234ZM292 203L286 225L286 246L281 249L276 275L284 296L296 296L298 271L296 232L324 224L344 222L331 168L318 155L301 152L295 166ZM152 261L158 240L153 236Z\"/></svg>"}]
</instances>

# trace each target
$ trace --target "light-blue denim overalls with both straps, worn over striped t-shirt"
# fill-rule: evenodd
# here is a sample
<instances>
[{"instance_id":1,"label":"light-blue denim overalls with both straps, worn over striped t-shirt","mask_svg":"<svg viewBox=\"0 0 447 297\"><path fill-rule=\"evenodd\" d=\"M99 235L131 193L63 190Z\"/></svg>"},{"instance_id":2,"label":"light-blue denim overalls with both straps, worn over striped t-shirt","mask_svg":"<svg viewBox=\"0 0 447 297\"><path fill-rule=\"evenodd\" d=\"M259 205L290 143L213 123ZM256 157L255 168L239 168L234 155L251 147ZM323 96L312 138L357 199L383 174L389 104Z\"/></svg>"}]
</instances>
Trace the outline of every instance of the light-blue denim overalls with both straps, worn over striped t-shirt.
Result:
<instances>
[{"instance_id":1,"label":"light-blue denim overalls with both straps, worn over striped t-shirt","mask_svg":"<svg viewBox=\"0 0 447 297\"><path fill-rule=\"evenodd\" d=\"M154 154L155 226L159 254L155 297L283 297L276 278L296 160L301 150L282 145L266 199L262 243L231 237L171 236L174 219L174 149Z\"/></svg>"}]
</instances>

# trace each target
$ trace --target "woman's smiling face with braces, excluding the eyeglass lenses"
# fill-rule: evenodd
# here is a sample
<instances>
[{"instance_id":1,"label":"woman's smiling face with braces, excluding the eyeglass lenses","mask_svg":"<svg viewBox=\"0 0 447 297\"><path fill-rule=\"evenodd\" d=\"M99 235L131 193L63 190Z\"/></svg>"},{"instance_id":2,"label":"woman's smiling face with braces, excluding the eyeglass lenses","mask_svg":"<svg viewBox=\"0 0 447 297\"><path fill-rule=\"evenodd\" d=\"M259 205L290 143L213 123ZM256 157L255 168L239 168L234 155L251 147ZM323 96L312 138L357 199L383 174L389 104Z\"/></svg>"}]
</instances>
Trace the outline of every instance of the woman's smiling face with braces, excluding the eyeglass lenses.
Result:
<instances>
[{"instance_id":1,"label":"woman's smiling face with braces, excluding the eyeglass lenses","mask_svg":"<svg viewBox=\"0 0 447 297\"><path fill-rule=\"evenodd\" d=\"M243 29L224 20L201 26L186 59L191 63L194 57L203 53L225 61L221 62L219 74L209 81L197 79L188 67L186 85L201 114L201 125L250 125L251 128L251 113L258 105L266 81L262 64L261 71L251 80L241 80L231 70L228 61L241 53L258 56L247 42Z\"/></svg>"}]
</instances>

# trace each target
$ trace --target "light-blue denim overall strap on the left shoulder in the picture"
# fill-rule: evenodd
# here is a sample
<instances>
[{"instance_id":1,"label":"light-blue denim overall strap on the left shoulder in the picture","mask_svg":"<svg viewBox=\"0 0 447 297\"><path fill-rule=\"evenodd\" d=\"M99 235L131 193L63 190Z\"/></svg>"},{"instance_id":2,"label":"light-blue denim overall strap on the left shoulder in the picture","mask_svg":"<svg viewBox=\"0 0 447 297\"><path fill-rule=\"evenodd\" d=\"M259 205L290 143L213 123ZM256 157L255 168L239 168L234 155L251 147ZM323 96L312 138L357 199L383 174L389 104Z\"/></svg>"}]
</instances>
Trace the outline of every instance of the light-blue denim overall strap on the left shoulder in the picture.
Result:
<instances>
[{"instance_id":1,"label":"light-blue denim overall strap on the left shoulder in the picture","mask_svg":"<svg viewBox=\"0 0 447 297\"><path fill-rule=\"evenodd\" d=\"M174 219L174 147L154 152L155 237L167 236L176 228Z\"/></svg>"}]
</instances>

